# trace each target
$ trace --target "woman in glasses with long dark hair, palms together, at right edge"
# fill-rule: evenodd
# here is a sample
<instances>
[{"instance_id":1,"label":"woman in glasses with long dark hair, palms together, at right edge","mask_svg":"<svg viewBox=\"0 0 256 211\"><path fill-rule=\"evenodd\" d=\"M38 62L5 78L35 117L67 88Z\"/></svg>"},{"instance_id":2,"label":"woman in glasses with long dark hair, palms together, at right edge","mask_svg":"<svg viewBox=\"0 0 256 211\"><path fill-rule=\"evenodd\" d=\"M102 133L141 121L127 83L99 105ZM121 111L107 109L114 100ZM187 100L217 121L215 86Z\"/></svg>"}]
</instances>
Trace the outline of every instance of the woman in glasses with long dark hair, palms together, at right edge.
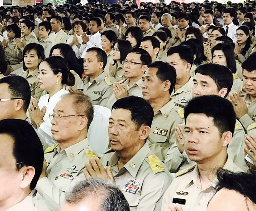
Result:
<instances>
[{"instance_id":1,"label":"woman in glasses with long dark hair, palms together, at right edge","mask_svg":"<svg viewBox=\"0 0 256 211\"><path fill-rule=\"evenodd\" d=\"M253 49L248 27L240 26L237 29L235 36L237 37L237 43L235 44L235 56L242 64L242 62L250 56Z\"/></svg>"}]
</instances>

